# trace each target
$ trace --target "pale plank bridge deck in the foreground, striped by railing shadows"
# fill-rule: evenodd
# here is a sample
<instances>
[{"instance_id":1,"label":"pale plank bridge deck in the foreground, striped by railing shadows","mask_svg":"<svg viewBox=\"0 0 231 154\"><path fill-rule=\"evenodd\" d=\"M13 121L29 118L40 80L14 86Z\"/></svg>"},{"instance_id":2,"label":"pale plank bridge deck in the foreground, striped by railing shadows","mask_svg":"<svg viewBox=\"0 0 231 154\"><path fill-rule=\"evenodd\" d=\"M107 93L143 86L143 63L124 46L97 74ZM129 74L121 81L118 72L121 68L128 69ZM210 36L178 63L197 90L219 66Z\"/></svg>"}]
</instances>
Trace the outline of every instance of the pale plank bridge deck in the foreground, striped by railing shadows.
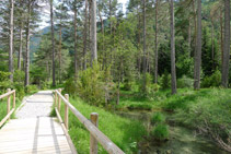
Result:
<instances>
[{"instance_id":1,"label":"pale plank bridge deck in the foreground, striped by railing shadows","mask_svg":"<svg viewBox=\"0 0 231 154\"><path fill-rule=\"evenodd\" d=\"M50 95L44 95L44 97ZM42 98L43 95L39 95L39 97ZM32 100L33 97L30 99ZM24 110L23 108L21 110ZM61 125L56 118L43 116L28 118L28 115L26 115L26 118L10 120L0 130L0 154L19 153L70 154L71 149Z\"/></svg>"}]
</instances>

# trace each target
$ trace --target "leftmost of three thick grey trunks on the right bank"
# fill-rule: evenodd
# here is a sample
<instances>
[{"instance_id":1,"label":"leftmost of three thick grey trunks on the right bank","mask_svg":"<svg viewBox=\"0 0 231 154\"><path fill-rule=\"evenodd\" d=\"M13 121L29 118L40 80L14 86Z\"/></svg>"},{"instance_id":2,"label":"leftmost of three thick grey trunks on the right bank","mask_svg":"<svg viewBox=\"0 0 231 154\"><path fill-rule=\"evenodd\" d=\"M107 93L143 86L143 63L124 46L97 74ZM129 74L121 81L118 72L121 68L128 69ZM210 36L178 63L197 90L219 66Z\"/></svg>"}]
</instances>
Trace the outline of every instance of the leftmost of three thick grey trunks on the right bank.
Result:
<instances>
[{"instance_id":1,"label":"leftmost of three thick grey trunks on the right bank","mask_svg":"<svg viewBox=\"0 0 231 154\"><path fill-rule=\"evenodd\" d=\"M174 3L171 0L170 4L170 19L171 19L171 75L172 75L172 94L176 93L176 72L175 72L175 25L174 25Z\"/></svg>"}]
</instances>

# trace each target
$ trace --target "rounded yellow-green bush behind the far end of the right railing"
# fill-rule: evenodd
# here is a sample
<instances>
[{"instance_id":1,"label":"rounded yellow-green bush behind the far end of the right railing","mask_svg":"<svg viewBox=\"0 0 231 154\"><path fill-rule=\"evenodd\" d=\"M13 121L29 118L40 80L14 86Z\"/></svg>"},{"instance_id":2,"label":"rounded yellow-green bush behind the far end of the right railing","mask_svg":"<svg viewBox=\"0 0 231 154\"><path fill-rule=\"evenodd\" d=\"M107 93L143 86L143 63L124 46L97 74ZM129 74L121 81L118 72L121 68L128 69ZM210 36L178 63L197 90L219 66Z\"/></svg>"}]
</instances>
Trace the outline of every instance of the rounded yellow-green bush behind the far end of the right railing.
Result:
<instances>
[{"instance_id":1,"label":"rounded yellow-green bush behind the far end of the right railing","mask_svg":"<svg viewBox=\"0 0 231 154\"><path fill-rule=\"evenodd\" d=\"M111 70L100 70L99 64L93 64L79 72L77 82L69 79L65 84L65 91L79 95L91 105L104 106L115 96L116 86L112 82Z\"/></svg>"}]
</instances>

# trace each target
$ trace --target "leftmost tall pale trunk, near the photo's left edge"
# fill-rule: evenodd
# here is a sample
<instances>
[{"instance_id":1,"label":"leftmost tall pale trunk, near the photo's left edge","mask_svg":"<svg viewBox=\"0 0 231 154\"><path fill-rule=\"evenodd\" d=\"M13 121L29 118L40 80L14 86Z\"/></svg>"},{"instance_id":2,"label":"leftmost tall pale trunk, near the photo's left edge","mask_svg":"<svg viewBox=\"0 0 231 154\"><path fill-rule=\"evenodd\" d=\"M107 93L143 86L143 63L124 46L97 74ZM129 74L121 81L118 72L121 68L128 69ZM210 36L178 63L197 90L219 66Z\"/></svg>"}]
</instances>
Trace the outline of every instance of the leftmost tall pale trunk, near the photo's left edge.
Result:
<instances>
[{"instance_id":1,"label":"leftmost tall pale trunk, near the photo's left edge","mask_svg":"<svg viewBox=\"0 0 231 154\"><path fill-rule=\"evenodd\" d=\"M9 72L10 80L13 82L13 9L14 9L14 0L10 0L10 50L9 50Z\"/></svg>"}]
</instances>

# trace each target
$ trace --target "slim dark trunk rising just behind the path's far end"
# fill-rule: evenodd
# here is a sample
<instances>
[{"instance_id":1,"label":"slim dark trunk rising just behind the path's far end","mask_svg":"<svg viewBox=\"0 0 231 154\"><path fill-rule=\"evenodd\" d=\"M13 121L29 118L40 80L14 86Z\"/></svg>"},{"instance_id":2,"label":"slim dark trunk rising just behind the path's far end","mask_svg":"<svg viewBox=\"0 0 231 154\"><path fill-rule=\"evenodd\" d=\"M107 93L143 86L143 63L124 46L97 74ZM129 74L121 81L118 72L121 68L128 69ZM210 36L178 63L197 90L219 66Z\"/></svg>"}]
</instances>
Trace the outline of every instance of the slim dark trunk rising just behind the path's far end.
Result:
<instances>
[{"instance_id":1,"label":"slim dark trunk rising just behind the path's far end","mask_svg":"<svg viewBox=\"0 0 231 154\"><path fill-rule=\"evenodd\" d=\"M53 0L50 0L50 31L51 31L51 44L53 44L53 86L56 86L56 63L55 63L55 32L53 21Z\"/></svg>"}]
</instances>

